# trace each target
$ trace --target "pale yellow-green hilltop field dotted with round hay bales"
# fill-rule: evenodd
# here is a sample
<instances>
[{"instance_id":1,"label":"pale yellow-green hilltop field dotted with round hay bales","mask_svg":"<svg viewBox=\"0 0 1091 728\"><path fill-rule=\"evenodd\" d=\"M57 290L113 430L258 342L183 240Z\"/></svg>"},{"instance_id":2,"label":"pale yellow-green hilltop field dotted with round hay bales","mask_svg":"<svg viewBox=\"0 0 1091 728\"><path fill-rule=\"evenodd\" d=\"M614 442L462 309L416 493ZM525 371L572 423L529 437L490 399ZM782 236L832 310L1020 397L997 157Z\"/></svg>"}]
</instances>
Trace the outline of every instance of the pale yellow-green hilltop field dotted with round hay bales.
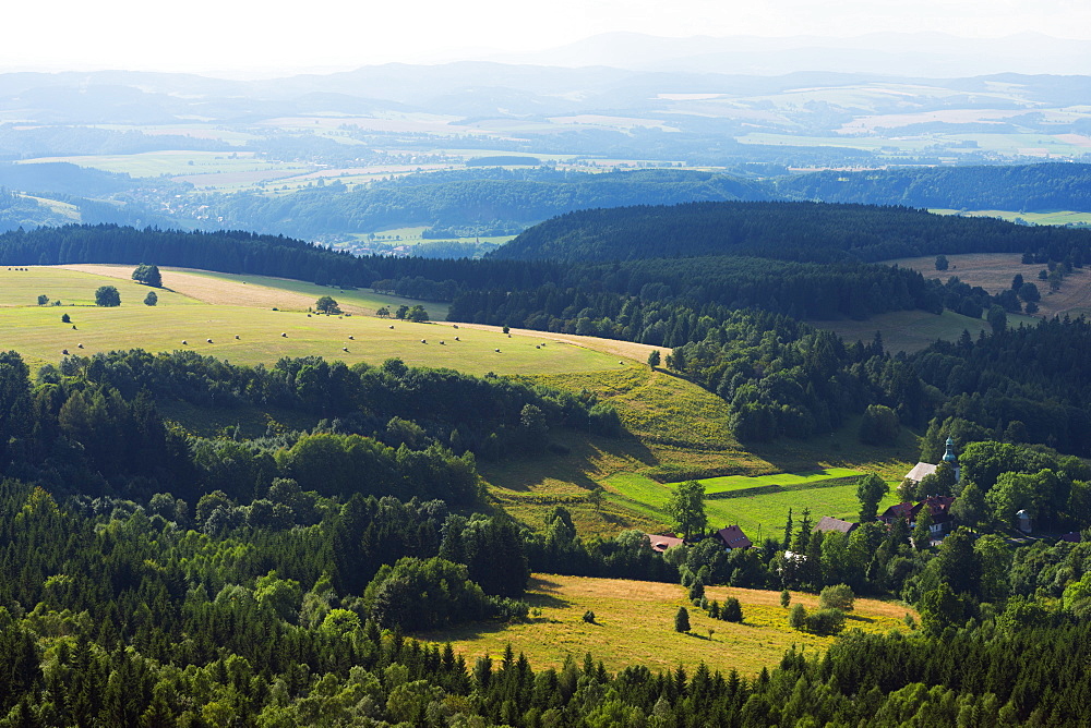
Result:
<instances>
[{"instance_id":1,"label":"pale yellow-green hilltop field dotted with round hay bales","mask_svg":"<svg viewBox=\"0 0 1091 728\"><path fill-rule=\"evenodd\" d=\"M103 284L118 288L121 306L92 305L95 289ZM0 349L20 351L32 367L57 363L65 349L86 355L132 348L153 352L185 349L236 364L266 365L281 356L320 355L372 364L397 356L412 366L444 366L478 375L637 366L633 362L619 364L616 354L586 347L552 341L539 348L540 338L509 338L499 330L455 330L451 324L308 316L304 312L213 305L164 290L157 291L159 305L145 306L141 302L149 290L133 281L57 268L0 270ZM39 293L60 299L65 305L37 306ZM360 293L360 300L373 295ZM63 314L71 316L71 324L61 323ZM460 341L455 341L456 336Z\"/></svg>"}]
</instances>

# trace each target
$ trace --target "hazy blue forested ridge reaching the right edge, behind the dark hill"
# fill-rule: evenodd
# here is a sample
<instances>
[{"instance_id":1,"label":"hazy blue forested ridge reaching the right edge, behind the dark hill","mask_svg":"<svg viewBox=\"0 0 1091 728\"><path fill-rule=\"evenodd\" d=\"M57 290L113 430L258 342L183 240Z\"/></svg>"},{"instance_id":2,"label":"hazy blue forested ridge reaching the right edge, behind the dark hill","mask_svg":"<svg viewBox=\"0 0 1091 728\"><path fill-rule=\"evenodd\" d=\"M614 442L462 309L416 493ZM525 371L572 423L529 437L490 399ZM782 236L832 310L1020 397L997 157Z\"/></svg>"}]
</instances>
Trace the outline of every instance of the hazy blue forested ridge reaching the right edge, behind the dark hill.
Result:
<instances>
[{"instance_id":1,"label":"hazy blue forested ridge reaching the right edge, behind the dark hill","mask_svg":"<svg viewBox=\"0 0 1091 728\"><path fill-rule=\"evenodd\" d=\"M814 172L770 182L770 195L969 210L1091 210L1091 165L1046 162Z\"/></svg>"}]
</instances>

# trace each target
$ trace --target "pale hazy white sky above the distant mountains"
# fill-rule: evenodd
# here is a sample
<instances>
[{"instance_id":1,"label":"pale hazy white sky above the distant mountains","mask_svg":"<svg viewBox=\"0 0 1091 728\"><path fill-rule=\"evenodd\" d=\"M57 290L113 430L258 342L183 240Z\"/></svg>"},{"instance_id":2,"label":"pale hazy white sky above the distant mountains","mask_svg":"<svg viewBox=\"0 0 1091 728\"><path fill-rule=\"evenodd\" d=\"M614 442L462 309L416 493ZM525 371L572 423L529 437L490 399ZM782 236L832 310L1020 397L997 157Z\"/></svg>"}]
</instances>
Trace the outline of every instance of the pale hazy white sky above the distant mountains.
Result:
<instances>
[{"instance_id":1,"label":"pale hazy white sky above the distant mountains","mask_svg":"<svg viewBox=\"0 0 1091 728\"><path fill-rule=\"evenodd\" d=\"M245 72L541 50L599 33L661 36L1036 31L1091 39L1088 0L52 0L4 9L0 71Z\"/></svg>"}]
</instances>

